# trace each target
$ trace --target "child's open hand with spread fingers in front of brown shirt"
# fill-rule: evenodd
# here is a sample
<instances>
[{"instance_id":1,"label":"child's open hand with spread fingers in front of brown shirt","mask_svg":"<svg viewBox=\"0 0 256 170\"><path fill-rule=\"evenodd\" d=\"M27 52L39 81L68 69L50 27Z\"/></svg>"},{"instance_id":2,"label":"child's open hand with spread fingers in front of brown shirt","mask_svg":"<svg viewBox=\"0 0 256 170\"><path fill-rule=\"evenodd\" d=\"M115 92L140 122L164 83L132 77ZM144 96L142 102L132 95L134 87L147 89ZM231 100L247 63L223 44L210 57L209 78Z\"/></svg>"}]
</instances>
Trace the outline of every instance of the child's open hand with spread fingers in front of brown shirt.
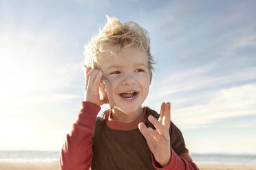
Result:
<instances>
[{"instance_id":1,"label":"child's open hand with spread fingers in front of brown shirt","mask_svg":"<svg viewBox=\"0 0 256 170\"><path fill-rule=\"evenodd\" d=\"M171 160L170 149L170 134L169 127L171 123L171 104L162 103L160 117L156 118L149 116L149 121L156 127L153 130L151 127L147 128L144 123L138 125L140 132L147 141L149 149L153 153L156 161L165 167Z\"/></svg>"}]
</instances>

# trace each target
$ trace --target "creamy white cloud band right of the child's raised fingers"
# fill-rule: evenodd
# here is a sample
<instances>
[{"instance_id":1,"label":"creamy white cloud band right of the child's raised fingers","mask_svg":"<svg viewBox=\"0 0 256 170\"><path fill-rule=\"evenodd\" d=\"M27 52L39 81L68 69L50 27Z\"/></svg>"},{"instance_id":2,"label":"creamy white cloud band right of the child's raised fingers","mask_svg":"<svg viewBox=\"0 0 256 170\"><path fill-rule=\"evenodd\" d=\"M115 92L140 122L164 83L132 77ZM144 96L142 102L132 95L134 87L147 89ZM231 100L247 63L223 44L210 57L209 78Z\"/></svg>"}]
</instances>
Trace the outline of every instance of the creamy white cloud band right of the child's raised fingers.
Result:
<instances>
[{"instance_id":1,"label":"creamy white cloud band right of the child's raised fingers","mask_svg":"<svg viewBox=\"0 0 256 170\"><path fill-rule=\"evenodd\" d=\"M256 84L215 91L208 104L173 110L175 121L184 128L207 126L220 119L256 114Z\"/></svg>"}]
</instances>

